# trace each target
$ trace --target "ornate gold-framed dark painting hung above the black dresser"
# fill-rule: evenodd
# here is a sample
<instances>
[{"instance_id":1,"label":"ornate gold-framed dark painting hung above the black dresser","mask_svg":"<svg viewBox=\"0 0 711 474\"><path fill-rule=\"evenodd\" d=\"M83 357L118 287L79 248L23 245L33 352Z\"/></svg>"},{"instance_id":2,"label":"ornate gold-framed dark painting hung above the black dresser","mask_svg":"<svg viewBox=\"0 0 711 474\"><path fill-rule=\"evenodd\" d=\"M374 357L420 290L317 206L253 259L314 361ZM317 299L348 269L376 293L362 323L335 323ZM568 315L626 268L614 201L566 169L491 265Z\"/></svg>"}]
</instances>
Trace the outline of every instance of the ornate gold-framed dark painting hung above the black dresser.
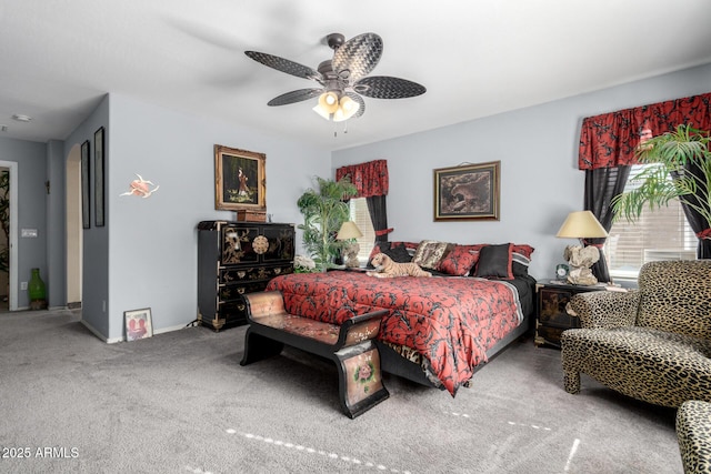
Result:
<instances>
[{"instance_id":1,"label":"ornate gold-framed dark painting hung above the black dresser","mask_svg":"<svg viewBox=\"0 0 711 474\"><path fill-rule=\"evenodd\" d=\"M214 209L267 210L267 155L214 145Z\"/></svg>"}]
</instances>

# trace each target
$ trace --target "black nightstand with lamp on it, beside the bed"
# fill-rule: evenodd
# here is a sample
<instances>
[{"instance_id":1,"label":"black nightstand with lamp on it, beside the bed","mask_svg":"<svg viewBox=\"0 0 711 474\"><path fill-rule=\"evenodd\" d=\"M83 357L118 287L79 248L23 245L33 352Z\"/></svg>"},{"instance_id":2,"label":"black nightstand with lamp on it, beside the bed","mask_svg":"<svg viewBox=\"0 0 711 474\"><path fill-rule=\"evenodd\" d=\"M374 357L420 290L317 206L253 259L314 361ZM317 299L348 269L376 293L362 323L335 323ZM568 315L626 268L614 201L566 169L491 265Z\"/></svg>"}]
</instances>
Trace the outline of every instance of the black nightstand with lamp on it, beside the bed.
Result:
<instances>
[{"instance_id":1,"label":"black nightstand with lamp on it, beside the bed","mask_svg":"<svg viewBox=\"0 0 711 474\"><path fill-rule=\"evenodd\" d=\"M550 345L560 349L560 335L571 327L580 327L578 316L568 314L565 305L578 293L605 291L604 284L593 286L567 283L539 283L535 285L535 337L537 346Z\"/></svg>"}]
</instances>

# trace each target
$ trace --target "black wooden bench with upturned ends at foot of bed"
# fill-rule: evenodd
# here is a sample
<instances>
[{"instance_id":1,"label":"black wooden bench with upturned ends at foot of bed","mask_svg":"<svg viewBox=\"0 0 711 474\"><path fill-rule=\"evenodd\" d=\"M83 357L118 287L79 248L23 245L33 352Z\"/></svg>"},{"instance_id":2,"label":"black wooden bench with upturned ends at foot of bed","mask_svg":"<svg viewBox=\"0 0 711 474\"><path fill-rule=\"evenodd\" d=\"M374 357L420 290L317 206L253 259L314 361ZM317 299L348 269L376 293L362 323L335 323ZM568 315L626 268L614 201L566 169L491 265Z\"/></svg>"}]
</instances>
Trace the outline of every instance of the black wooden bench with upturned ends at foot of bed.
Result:
<instances>
[{"instance_id":1,"label":"black wooden bench with upturned ends at foot of bed","mask_svg":"<svg viewBox=\"0 0 711 474\"><path fill-rule=\"evenodd\" d=\"M360 314L338 325L288 313L280 291L249 293L244 300L249 327L241 365L278 355L287 344L336 363L341 406L351 418L390 396L373 342L387 310Z\"/></svg>"}]
</instances>

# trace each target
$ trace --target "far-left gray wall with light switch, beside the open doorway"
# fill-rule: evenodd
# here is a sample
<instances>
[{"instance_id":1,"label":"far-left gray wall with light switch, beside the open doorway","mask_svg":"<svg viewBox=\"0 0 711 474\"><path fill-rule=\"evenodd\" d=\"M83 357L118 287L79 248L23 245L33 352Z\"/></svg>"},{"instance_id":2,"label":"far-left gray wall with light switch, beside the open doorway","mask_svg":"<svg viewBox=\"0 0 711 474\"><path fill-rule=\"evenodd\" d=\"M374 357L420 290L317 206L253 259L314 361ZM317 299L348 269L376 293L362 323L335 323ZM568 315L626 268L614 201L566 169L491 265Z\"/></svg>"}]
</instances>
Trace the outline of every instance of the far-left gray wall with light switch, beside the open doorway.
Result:
<instances>
[{"instance_id":1,"label":"far-left gray wall with light switch, beside the open doorway","mask_svg":"<svg viewBox=\"0 0 711 474\"><path fill-rule=\"evenodd\" d=\"M48 220L47 220L47 189L48 179L48 145L46 143L29 142L0 138L0 161L18 163L18 307L29 307L30 301L27 290L19 290L20 282L30 280L31 269L40 269L48 294L51 295L52 284L48 278ZM38 236L20 238L21 229L37 229ZM50 304L53 302L50 301Z\"/></svg>"}]
</instances>

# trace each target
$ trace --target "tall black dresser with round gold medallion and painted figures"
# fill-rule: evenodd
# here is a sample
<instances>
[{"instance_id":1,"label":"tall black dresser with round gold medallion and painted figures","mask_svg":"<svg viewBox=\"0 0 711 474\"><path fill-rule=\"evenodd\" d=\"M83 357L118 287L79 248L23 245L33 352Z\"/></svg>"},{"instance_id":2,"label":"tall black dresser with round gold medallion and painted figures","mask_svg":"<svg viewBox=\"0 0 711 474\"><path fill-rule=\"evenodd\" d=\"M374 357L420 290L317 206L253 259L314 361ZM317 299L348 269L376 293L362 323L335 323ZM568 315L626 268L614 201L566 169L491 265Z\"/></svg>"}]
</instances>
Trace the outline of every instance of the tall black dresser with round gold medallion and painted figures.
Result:
<instances>
[{"instance_id":1,"label":"tall black dresser with round gold medallion and painted figures","mask_svg":"<svg viewBox=\"0 0 711 474\"><path fill-rule=\"evenodd\" d=\"M202 221L198 224L198 321L220 331L247 324L246 293L293 272L294 225Z\"/></svg>"}]
</instances>

